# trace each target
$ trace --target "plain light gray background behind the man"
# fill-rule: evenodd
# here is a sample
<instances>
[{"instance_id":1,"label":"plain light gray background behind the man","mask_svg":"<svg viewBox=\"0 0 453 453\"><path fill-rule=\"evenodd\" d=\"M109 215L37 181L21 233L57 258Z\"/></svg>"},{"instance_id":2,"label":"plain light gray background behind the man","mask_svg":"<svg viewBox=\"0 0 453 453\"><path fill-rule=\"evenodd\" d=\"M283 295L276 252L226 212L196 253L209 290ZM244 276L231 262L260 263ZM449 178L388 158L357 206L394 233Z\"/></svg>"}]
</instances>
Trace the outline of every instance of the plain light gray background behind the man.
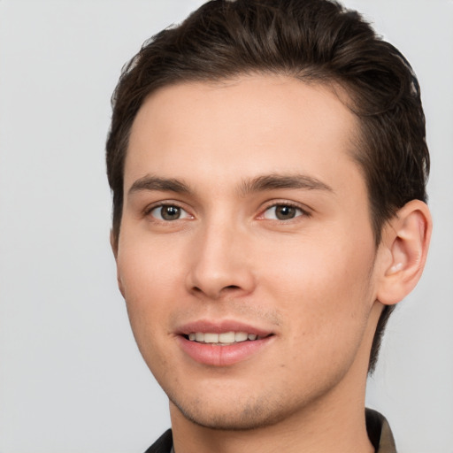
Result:
<instances>
[{"instance_id":1,"label":"plain light gray background behind the man","mask_svg":"<svg viewBox=\"0 0 453 453\"><path fill-rule=\"evenodd\" d=\"M0 452L142 452L169 426L108 242L120 67L199 0L0 0ZM453 2L349 0L403 50L426 109L435 222L368 403L400 453L453 452Z\"/></svg>"}]
</instances>

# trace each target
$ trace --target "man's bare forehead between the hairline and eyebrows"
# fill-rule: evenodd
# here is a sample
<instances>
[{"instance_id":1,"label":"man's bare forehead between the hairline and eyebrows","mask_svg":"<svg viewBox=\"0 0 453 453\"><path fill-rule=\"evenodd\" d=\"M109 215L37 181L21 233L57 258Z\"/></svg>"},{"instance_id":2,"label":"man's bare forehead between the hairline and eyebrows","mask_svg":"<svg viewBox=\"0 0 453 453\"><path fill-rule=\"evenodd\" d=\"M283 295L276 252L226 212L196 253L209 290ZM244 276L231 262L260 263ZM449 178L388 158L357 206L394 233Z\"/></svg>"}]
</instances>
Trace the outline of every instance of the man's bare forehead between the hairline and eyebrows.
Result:
<instances>
[{"instance_id":1,"label":"man's bare forehead between the hairline and eyebrows","mask_svg":"<svg viewBox=\"0 0 453 453\"><path fill-rule=\"evenodd\" d=\"M249 75L168 86L149 96L134 119L125 188L147 173L184 179L196 173L198 181L206 176L219 184L232 175L303 171L322 179L342 166L348 173L356 166L357 130L334 89L318 83Z\"/></svg>"}]
</instances>

